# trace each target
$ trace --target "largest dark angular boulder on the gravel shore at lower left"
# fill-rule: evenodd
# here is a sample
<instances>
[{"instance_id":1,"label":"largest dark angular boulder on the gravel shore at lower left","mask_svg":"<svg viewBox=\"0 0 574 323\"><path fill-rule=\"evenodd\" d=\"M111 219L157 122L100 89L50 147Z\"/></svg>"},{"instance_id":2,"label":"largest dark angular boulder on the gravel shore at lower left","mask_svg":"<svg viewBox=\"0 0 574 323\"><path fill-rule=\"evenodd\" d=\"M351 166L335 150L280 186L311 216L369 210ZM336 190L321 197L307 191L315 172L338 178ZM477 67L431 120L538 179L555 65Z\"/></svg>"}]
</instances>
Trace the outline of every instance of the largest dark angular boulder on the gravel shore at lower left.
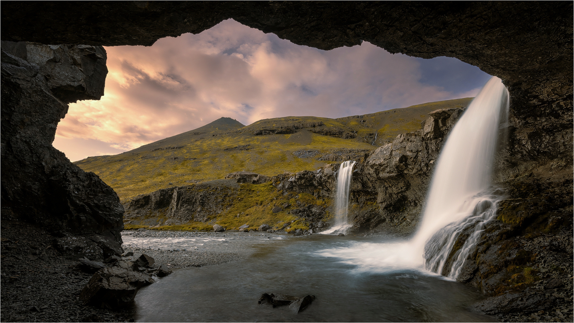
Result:
<instances>
[{"instance_id":1,"label":"largest dark angular boulder on the gravel shore at lower left","mask_svg":"<svg viewBox=\"0 0 574 323\"><path fill-rule=\"evenodd\" d=\"M118 309L129 305L142 286L153 283L146 274L127 268L109 267L97 271L80 293L80 301L87 305Z\"/></svg>"}]
</instances>

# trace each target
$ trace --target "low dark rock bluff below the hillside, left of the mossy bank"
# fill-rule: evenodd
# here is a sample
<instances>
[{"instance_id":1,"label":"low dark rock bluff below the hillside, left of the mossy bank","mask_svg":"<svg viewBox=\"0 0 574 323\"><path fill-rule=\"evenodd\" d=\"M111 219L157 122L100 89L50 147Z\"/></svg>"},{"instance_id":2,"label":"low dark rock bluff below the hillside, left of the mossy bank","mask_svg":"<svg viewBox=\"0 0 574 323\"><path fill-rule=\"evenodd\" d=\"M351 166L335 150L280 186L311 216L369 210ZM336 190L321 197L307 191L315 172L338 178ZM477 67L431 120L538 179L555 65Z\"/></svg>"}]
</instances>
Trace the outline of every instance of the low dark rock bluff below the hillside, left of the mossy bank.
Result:
<instances>
[{"instance_id":1,"label":"low dark rock bluff below the hillside, left of the mossy bank","mask_svg":"<svg viewBox=\"0 0 574 323\"><path fill-rule=\"evenodd\" d=\"M130 200L125 220L149 226L203 222L233 203L238 190L239 184L229 179L156 190Z\"/></svg>"}]
</instances>

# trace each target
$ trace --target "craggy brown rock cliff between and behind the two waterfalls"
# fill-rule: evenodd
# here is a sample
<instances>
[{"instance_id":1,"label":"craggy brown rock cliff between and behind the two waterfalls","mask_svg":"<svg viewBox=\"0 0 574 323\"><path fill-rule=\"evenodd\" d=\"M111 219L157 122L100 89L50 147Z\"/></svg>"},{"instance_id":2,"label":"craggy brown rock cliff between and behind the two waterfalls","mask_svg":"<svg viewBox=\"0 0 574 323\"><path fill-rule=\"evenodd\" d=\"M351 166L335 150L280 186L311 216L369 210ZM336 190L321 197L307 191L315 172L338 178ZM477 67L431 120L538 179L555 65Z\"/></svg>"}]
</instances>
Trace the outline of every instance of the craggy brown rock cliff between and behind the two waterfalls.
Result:
<instances>
[{"instance_id":1,"label":"craggy brown rock cliff between and behind the two waterfalls","mask_svg":"<svg viewBox=\"0 0 574 323\"><path fill-rule=\"evenodd\" d=\"M420 219L435 161L463 111L464 108L432 111L422 122L421 130L398 135L375 151L360 151L361 154L349 156L356 158L344 159L358 161L349 208L356 231L412 234ZM272 177L272 183L277 189L333 198L339 166L330 164L315 171L280 174ZM317 213L304 208L291 212Z\"/></svg>"}]
</instances>

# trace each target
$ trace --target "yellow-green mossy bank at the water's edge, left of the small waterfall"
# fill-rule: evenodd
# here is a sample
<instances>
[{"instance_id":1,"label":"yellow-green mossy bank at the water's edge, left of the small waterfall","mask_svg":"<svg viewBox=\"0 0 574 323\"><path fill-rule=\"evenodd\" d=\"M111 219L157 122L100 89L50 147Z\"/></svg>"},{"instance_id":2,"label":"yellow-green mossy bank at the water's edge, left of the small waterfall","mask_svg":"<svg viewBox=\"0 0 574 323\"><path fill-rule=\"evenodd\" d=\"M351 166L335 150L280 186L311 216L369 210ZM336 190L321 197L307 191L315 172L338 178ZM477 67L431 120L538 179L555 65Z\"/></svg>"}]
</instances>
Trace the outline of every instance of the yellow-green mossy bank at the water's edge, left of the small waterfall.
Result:
<instances>
[{"instance_id":1,"label":"yellow-green mossy bank at the water's edge, left of the small waterfall","mask_svg":"<svg viewBox=\"0 0 574 323\"><path fill-rule=\"evenodd\" d=\"M284 194L277 190L270 182L264 184L240 184L238 195L232 202L224 204L226 209L219 213L208 216L207 221L191 221L178 225L157 225L154 229L177 229L177 230L211 230L214 224L222 225L228 229L238 229L243 224L249 224L250 228L258 228L261 224L267 224L273 229L285 229L286 232L294 232L296 229L309 229L308 222L304 219L289 214L288 211L297 208L298 205L315 204L327 207L331 203L329 199L317 199L307 193L289 192ZM282 205L290 204L283 208ZM281 207L283 211L273 213L273 207ZM327 215L327 219L331 215ZM294 222L292 222L294 221ZM135 220L137 223L137 219ZM148 225L125 224L126 229L148 228Z\"/></svg>"}]
</instances>

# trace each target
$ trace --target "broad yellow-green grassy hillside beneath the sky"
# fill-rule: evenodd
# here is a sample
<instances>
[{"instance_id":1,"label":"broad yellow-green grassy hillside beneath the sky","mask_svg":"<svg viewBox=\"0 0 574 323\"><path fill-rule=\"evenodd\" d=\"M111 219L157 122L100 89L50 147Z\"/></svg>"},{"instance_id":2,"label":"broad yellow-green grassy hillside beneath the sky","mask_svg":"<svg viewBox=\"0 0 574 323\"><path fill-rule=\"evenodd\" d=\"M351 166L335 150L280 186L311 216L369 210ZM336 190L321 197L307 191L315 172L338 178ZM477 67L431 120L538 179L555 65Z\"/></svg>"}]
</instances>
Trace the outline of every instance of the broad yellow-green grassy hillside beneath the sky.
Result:
<instances>
[{"instance_id":1,"label":"broad yellow-green grassy hillside beneath the sky","mask_svg":"<svg viewBox=\"0 0 574 323\"><path fill-rule=\"evenodd\" d=\"M249 126L220 118L122 154L88 157L75 164L98 174L123 203L137 194L215 180L239 170L273 176L352 159L391 141L397 134L420 129L428 112L465 107L471 99L430 102L338 119L287 116L259 120Z\"/></svg>"}]
</instances>

